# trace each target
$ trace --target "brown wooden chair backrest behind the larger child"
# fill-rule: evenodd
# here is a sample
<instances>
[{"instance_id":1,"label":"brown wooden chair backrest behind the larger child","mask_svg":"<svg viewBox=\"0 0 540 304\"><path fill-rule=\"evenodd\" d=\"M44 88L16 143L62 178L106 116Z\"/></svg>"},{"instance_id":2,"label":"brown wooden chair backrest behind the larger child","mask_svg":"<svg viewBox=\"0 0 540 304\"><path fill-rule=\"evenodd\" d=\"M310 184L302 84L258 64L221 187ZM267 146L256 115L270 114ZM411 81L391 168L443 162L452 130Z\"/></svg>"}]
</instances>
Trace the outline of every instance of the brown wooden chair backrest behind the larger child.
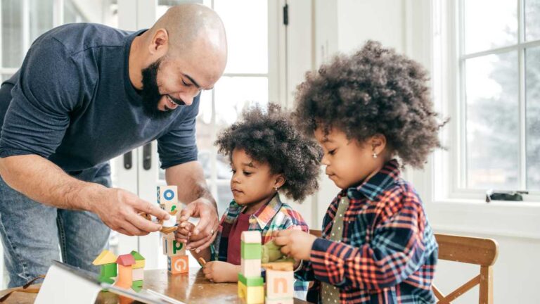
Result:
<instances>
[{"instance_id":1,"label":"brown wooden chair backrest behind the larger child","mask_svg":"<svg viewBox=\"0 0 540 304\"><path fill-rule=\"evenodd\" d=\"M474 286L480 284L478 303L493 304L493 265L499 253L497 242L494 239L482 239L469 236L454 236L448 234L435 234L439 243L439 260L465 262L480 265L480 274L455 291L444 296L435 285L433 293L440 304L450 303ZM440 275L440 274L438 274Z\"/></svg>"}]
</instances>

